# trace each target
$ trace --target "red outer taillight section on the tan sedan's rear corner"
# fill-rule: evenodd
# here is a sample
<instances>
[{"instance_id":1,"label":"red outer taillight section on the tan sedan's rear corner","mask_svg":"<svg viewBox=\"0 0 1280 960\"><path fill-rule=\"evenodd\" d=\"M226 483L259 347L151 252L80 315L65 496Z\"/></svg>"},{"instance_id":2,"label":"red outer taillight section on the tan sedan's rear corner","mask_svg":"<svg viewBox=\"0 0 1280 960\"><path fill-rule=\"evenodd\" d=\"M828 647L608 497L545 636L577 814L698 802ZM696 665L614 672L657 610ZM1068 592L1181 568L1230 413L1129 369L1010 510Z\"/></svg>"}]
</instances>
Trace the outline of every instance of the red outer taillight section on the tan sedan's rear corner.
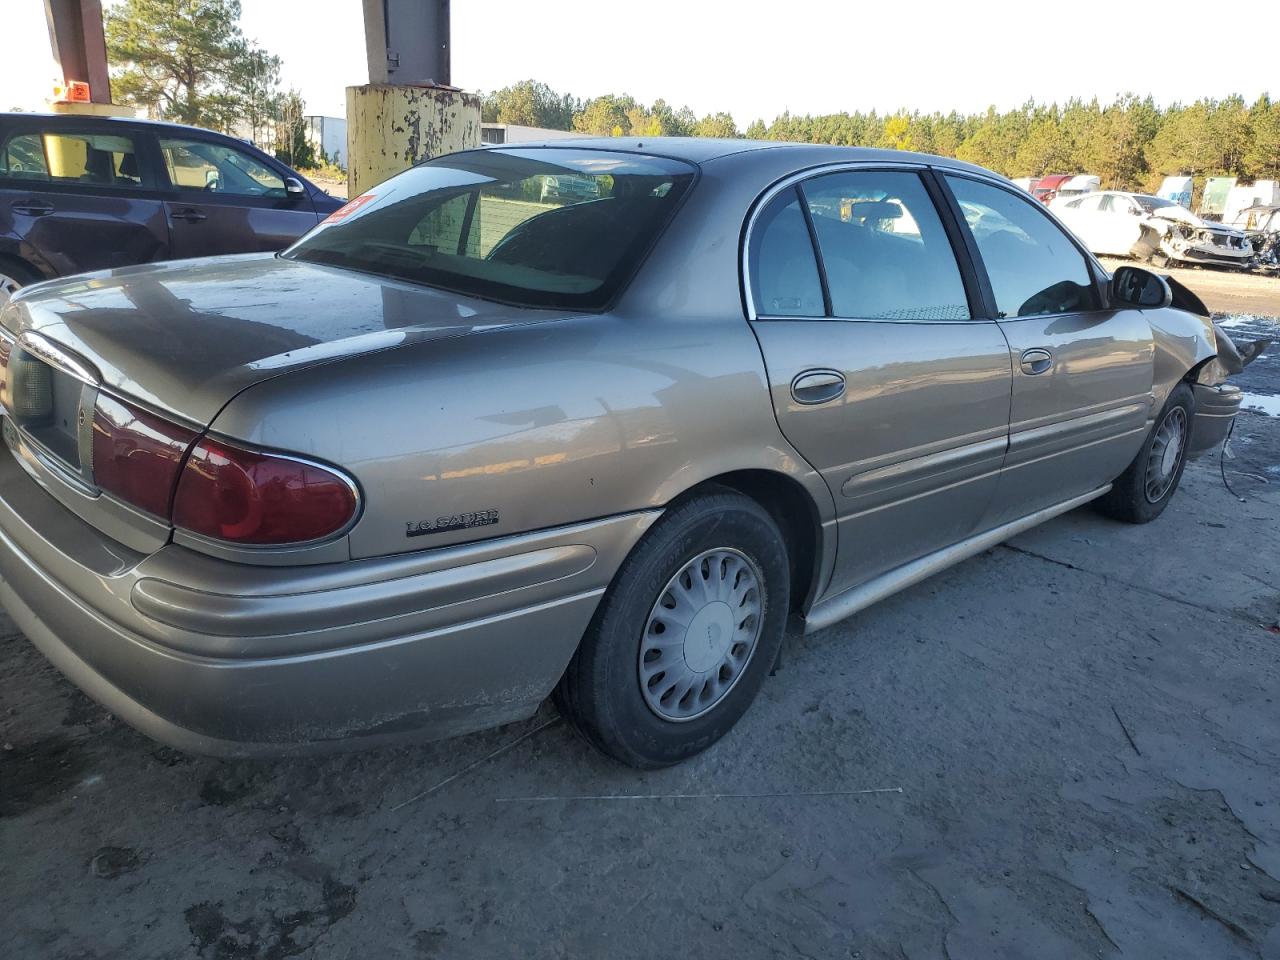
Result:
<instances>
[{"instance_id":1,"label":"red outer taillight section on the tan sedan's rear corner","mask_svg":"<svg viewBox=\"0 0 1280 960\"><path fill-rule=\"evenodd\" d=\"M293 544L338 532L356 516L351 481L316 463L204 439L187 458L173 524L242 544Z\"/></svg>"}]
</instances>

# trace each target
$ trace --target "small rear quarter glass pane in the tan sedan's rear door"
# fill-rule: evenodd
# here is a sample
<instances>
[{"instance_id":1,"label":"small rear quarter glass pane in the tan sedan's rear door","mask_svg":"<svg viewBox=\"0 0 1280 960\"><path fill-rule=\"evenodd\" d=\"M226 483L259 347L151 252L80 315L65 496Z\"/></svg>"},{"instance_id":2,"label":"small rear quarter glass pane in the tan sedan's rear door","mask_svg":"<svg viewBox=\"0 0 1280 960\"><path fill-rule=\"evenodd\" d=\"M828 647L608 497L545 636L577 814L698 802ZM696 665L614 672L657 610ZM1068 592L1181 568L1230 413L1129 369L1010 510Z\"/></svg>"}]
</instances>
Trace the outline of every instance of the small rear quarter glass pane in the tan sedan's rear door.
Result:
<instances>
[{"instance_id":1,"label":"small rear quarter glass pane in the tan sedan's rear door","mask_svg":"<svg viewBox=\"0 0 1280 960\"><path fill-rule=\"evenodd\" d=\"M751 234L751 300L759 316L824 316L809 227L794 189L760 211Z\"/></svg>"}]
</instances>

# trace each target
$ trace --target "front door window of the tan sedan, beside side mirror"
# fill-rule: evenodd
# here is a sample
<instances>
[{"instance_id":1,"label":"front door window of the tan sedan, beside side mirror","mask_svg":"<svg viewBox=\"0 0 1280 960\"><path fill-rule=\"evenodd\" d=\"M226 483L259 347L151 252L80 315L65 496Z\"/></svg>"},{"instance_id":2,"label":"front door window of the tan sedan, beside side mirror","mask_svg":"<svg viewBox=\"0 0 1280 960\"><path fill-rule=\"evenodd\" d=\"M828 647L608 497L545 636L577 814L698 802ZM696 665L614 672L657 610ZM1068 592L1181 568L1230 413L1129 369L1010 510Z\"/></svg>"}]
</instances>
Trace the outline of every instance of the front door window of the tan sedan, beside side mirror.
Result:
<instances>
[{"instance_id":1,"label":"front door window of the tan sedan, beside side mirror","mask_svg":"<svg viewBox=\"0 0 1280 960\"><path fill-rule=\"evenodd\" d=\"M978 243L1001 317L1097 308L1084 256L1041 209L1000 187L946 179Z\"/></svg>"}]
</instances>

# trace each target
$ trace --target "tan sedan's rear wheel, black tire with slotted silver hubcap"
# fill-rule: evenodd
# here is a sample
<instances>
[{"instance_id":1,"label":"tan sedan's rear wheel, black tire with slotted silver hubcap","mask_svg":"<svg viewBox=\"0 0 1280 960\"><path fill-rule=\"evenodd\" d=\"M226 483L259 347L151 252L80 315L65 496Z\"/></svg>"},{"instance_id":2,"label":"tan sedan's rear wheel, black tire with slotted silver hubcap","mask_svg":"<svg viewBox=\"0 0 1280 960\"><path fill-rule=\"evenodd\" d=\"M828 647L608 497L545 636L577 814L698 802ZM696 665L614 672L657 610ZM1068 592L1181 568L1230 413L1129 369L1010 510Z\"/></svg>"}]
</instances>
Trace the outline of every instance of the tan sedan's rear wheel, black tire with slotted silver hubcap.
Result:
<instances>
[{"instance_id":1,"label":"tan sedan's rear wheel, black tire with slotted silver hubcap","mask_svg":"<svg viewBox=\"0 0 1280 960\"><path fill-rule=\"evenodd\" d=\"M561 712L631 767L678 763L746 712L782 645L787 545L727 489L669 509L623 562L556 691Z\"/></svg>"}]
</instances>

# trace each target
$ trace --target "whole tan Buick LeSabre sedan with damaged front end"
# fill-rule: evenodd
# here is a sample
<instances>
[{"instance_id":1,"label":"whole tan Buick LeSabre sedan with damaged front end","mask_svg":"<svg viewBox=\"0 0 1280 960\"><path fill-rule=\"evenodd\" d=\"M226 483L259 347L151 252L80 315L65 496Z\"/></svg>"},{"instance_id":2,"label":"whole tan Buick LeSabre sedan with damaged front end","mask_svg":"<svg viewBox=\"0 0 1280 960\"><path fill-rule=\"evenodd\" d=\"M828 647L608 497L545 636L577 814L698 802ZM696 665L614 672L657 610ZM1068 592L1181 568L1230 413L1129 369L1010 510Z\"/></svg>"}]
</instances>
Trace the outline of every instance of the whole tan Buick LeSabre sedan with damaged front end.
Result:
<instances>
[{"instance_id":1,"label":"whole tan Buick LeSabre sedan with damaged front end","mask_svg":"<svg viewBox=\"0 0 1280 960\"><path fill-rule=\"evenodd\" d=\"M545 177L589 198L532 200ZM184 750L449 736L549 694L609 756L722 737L814 631L1221 443L1234 346L978 166L475 150L282 255L0 314L0 602Z\"/></svg>"}]
</instances>

